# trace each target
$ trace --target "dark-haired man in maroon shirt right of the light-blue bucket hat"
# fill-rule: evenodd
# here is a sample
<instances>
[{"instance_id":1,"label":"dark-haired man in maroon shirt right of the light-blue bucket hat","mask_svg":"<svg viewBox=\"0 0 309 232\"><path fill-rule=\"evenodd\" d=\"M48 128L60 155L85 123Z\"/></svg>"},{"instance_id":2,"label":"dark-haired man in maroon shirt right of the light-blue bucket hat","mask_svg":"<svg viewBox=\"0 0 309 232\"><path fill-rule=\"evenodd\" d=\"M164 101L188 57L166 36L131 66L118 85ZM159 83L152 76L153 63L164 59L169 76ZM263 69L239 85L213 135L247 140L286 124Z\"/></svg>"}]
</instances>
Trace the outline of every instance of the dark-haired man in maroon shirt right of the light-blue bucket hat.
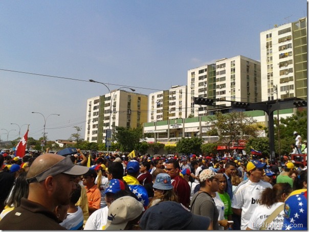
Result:
<instances>
[{"instance_id":1,"label":"dark-haired man in maroon shirt right of the light-blue bucket hat","mask_svg":"<svg viewBox=\"0 0 309 232\"><path fill-rule=\"evenodd\" d=\"M190 204L190 186L184 178L180 176L180 167L177 160L171 160L166 164L166 173L171 177L171 183L178 200L184 206L189 208Z\"/></svg>"}]
</instances>

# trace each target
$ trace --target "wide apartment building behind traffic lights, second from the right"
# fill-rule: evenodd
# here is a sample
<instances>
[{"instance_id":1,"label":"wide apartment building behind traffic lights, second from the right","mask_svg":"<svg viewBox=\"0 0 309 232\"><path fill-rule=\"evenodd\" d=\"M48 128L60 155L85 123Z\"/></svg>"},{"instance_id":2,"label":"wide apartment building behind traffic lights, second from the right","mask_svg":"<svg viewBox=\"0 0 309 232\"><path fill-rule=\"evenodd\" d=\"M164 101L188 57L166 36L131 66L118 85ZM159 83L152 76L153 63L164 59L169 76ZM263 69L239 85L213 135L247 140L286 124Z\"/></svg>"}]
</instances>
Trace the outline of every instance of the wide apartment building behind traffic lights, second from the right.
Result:
<instances>
[{"instance_id":1,"label":"wide apartment building behind traffic lights, second from the right","mask_svg":"<svg viewBox=\"0 0 309 232\"><path fill-rule=\"evenodd\" d=\"M226 108L228 112L231 101L260 102L260 77L260 62L244 56L223 58L215 64L190 69L188 111L197 117L218 108ZM215 99L216 106L194 105L194 97Z\"/></svg>"}]
</instances>

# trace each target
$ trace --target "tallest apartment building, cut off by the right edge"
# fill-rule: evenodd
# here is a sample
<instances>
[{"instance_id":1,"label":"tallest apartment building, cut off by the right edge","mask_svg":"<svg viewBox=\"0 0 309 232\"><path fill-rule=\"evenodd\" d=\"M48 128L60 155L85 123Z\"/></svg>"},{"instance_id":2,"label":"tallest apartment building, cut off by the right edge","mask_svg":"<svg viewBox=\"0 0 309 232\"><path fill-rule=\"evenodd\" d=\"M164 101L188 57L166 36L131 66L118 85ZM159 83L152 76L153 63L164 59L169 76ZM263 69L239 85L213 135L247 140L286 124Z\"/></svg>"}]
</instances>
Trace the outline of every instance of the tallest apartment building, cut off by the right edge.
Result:
<instances>
[{"instance_id":1,"label":"tallest apartment building, cut off by the right edge","mask_svg":"<svg viewBox=\"0 0 309 232\"><path fill-rule=\"evenodd\" d=\"M307 99L307 17L260 33L263 101Z\"/></svg>"}]
</instances>

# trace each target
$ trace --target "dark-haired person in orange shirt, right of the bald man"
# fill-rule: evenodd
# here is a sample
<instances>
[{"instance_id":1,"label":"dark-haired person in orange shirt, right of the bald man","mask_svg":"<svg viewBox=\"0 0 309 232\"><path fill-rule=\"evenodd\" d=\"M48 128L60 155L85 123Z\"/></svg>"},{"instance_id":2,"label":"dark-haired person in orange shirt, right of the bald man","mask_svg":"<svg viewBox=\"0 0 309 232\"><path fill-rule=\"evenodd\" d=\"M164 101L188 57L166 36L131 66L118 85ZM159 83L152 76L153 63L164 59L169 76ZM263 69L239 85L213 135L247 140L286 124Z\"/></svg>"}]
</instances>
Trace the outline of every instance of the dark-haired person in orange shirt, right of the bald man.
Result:
<instances>
[{"instance_id":1,"label":"dark-haired person in orange shirt, right of the bald man","mask_svg":"<svg viewBox=\"0 0 309 232\"><path fill-rule=\"evenodd\" d=\"M88 199L89 215L98 210L101 204L101 193L95 184L96 177L97 173L93 169L89 169L89 171L82 176L82 183L85 186Z\"/></svg>"}]
</instances>

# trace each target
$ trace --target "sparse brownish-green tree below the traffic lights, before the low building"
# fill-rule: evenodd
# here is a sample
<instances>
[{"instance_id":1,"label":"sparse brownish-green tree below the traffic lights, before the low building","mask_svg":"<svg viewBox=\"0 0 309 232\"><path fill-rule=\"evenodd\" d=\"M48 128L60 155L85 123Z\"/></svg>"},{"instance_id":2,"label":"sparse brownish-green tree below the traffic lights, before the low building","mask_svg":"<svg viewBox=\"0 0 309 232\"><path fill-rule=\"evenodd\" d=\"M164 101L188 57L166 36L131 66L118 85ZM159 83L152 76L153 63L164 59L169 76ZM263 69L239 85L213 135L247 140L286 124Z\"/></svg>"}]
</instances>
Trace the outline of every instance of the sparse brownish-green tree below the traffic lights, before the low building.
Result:
<instances>
[{"instance_id":1,"label":"sparse brownish-green tree below the traffic lights, before the low building","mask_svg":"<svg viewBox=\"0 0 309 232\"><path fill-rule=\"evenodd\" d=\"M233 111L230 113L216 112L215 117L210 118L211 135L218 135L219 143L228 144L232 141L248 140L257 136L258 126L252 117L244 112ZM217 132L217 133L216 133Z\"/></svg>"}]
</instances>

